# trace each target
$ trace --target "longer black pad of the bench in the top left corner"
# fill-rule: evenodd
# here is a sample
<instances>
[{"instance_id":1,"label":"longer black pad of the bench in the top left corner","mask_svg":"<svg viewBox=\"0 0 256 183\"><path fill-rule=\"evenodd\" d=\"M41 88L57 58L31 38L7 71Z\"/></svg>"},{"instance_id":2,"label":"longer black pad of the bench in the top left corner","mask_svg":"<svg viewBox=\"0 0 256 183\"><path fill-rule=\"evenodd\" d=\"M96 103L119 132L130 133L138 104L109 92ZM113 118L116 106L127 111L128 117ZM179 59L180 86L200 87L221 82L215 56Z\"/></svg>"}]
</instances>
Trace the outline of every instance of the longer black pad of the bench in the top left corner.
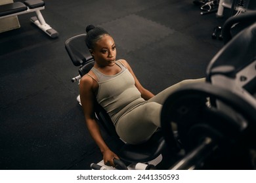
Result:
<instances>
[{"instance_id":1,"label":"longer black pad of the bench in the top left corner","mask_svg":"<svg viewBox=\"0 0 256 183\"><path fill-rule=\"evenodd\" d=\"M26 7L26 5L24 5L24 3L20 3L20 2L9 3L6 5L0 5L0 16L14 14L16 12L22 12L27 9L28 9L28 7Z\"/></svg>"}]
</instances>

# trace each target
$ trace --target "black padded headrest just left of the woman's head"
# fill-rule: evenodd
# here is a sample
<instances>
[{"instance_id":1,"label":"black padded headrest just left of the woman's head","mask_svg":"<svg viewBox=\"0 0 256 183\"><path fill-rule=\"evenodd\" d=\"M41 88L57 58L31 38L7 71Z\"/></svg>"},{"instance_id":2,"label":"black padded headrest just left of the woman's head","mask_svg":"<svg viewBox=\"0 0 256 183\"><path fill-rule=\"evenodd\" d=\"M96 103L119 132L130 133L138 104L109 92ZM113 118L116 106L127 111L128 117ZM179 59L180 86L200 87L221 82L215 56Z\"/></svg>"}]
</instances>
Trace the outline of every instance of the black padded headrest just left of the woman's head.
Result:
<instances>
[{"instance_id":1,"label":"black padded headrest just left of the woman's head","mask_svg":"<svg viewBox=\"0 0 256 183\"><path fill-rule=\"evenodd\" d=\"M85 44L86 34L74 36L65 41L65 48L75 66L81 66L93 59Z\"/></svg>"}]
</instances>

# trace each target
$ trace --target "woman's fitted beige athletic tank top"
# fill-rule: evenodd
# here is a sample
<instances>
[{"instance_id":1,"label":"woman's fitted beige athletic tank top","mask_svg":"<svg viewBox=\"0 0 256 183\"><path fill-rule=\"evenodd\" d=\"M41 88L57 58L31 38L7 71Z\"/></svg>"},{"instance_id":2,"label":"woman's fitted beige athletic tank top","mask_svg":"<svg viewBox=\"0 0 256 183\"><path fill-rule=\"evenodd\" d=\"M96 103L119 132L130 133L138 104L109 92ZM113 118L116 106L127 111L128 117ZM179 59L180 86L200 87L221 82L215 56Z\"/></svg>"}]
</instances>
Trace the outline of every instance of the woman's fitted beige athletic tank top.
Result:
<instances>
[{"instance_id":1,"label":"woman's fitted beige athletic tank top","mask_svg":"<svg viewBox=\"0 0 256 183\"><path fill-rule=\"evenodd\" d=\"M108 112L114 125L121 116L145 103L135 86L133 75L121 61L116 61L116 64L121 68L116 75L104 75L95 67L91 69L98 78L96 100Z\"/></svg>"}]
</instances>

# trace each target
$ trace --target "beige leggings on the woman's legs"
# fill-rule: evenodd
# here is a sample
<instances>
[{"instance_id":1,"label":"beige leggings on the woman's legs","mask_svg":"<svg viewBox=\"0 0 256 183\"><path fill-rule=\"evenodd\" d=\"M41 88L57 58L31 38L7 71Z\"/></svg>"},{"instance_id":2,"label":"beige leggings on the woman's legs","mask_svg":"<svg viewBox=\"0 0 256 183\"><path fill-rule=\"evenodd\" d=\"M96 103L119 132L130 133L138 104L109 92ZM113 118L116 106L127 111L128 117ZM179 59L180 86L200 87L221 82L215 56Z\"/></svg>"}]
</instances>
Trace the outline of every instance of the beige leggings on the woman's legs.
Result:
<instances>
[{"instance_id":1,"label":"beige leggings on the woman's legs","mask_svg":"<svg viewBox=\"0 0 256 183\"><path fill-rule=\"evenodd\" d=\"M116 124L119 137L129 144L147 141L156 129L161 127L160 114L165 99L182 85L198 82L205 82L205 78L182 80L122 116Z\"/></svg>"}]
</instances>

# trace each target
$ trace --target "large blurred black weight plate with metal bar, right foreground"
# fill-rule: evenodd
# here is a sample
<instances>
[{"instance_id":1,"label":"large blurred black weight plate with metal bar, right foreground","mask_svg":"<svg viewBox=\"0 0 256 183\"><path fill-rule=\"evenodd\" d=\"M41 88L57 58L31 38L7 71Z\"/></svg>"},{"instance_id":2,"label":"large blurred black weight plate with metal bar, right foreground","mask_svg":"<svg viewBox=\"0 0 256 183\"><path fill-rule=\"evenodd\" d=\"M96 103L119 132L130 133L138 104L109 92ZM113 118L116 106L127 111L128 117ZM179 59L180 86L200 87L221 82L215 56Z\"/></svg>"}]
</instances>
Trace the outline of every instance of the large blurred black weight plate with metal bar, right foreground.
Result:
<instances>
[{"instance_id":1,"label":"large blurred black weight plate with metal bar, right foreground","mask_svg":"<svg viewBox=\"0 0 256 183\"><path fill-rule=\"evenodd\" d=\"M207 97L225 106L208 107ZM207 83L173 93L163 105L161 125L167 144L175 146L167 139L172 139L170 122L177 124L186 156L171 169L252 169L249 151L255 149L255 108L255 101L248 103Z\"/></svg>"}]
</instances>

